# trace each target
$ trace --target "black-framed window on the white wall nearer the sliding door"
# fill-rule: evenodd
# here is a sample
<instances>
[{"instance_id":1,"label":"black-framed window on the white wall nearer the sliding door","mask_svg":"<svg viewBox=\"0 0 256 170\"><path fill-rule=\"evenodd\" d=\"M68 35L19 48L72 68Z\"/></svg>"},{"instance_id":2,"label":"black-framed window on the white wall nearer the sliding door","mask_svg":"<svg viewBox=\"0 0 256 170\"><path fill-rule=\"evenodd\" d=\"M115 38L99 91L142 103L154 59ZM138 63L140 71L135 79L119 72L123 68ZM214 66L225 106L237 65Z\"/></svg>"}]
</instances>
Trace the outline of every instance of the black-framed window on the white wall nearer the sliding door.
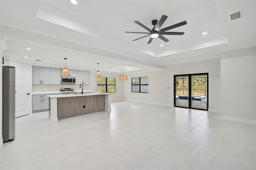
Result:
<instances>
[{"instance_id":1,"label":"black-framed window on the white wall nearer the sliding door","mask_svg":"<svg viewBox=\"0 0 256 170\"><path fill-rule=\"evenodd\" d=\"M132 78L132 92L148 93L148 77Z\"/></svg>"}]
</instances>

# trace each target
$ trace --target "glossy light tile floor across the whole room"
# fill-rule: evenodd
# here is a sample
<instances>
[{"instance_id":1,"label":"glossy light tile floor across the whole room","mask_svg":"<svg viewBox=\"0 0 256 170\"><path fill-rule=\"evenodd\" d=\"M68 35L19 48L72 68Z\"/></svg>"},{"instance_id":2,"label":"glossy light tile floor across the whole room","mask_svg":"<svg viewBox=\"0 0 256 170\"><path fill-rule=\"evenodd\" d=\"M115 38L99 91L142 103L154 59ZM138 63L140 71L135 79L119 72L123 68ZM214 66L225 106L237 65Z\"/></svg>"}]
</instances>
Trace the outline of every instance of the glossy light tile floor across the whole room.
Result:
<instances>
[{"instance_id":1,"label":"glossy light tile floor across the whole room","mask_svg":"<svg viewBox=\"0 0 256 170\"><path fill-rule=\"evenodd\" d=\"M112 102L111 109L58 123L48 112L16 118L0 169L256 169L255 125L136 102Z\"/></svg>"}]
</instances>

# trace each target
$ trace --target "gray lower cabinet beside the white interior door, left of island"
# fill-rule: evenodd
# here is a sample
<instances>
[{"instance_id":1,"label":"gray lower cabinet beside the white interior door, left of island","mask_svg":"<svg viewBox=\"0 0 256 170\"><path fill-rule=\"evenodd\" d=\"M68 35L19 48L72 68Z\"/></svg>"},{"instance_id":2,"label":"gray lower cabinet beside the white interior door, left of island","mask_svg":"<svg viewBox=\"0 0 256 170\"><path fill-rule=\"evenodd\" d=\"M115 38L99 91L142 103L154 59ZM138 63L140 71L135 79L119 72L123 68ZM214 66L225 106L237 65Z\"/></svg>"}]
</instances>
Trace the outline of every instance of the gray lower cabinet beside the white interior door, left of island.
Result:
<instances>
[{"instance_id":1,"label":"gray lower cabinet beside the white interior door, left of island","mask_svg":"<svg viewBox=\"0 0 256 170\"><path fill-rule=\"evenodd\" d=\"M47 94L49 95L49 94ZM49 110L49 97L46 95L32 95L32 112Z\"/></svg>"}]
</instances>

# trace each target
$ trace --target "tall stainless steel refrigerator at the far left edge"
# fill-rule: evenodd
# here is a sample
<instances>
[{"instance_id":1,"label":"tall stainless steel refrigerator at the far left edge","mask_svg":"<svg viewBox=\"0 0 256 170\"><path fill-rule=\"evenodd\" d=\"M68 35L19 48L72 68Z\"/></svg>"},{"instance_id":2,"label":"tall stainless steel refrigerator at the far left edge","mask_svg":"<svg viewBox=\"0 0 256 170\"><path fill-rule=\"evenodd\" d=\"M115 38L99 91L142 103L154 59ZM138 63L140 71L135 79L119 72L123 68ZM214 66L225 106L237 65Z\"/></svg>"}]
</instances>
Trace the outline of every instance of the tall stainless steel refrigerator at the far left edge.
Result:
<instances>
[{"instance_id":1,"label":"tall stainless steel refrigerator at the far left edge","mask_svg":"<svg viewBox=\"0 0 256 170\"><path fill-rule=\"evenodd\" d=\"M15 137L15 67L3 66L2 133L4 142Z\"/></svg>"}]
</instances>

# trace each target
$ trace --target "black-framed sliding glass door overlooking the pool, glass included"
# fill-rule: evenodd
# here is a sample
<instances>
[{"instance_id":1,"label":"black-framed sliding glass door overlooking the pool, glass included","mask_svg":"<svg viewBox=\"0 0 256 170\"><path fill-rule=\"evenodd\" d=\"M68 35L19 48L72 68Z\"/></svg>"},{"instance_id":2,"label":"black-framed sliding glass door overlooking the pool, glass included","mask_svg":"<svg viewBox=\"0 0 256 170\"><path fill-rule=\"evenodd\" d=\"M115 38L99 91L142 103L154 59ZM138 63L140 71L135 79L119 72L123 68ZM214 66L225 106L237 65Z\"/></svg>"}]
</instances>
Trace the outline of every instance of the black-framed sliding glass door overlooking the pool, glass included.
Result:
<instances>
[{"instance_id":1,"label":"black-framed sliding glass door overlooking the pool, glass included","mask_svg":"<svg viewBox=\"0 0 256 170\"><path fill-rule=\"evenodd\" d=\"M208 110L208 73L174 75L174 106Z\"/></svg>"}]
</instances>

